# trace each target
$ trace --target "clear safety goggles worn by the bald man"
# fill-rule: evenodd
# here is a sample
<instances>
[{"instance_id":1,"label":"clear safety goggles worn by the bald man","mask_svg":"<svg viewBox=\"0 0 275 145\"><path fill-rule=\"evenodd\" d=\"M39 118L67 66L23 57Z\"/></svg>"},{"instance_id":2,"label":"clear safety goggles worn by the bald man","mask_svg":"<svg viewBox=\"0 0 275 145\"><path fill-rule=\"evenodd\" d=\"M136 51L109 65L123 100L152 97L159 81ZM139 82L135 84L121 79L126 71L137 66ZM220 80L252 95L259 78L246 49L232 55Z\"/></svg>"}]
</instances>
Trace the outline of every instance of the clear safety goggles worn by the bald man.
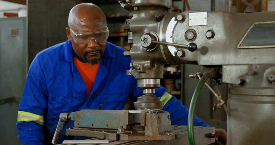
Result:
<instances>
[{"instance_id":1,"label":"clear safety goggles worn by the bald man","mask_svg":"<svg viewBox=\"0 0 275 145\"><path fill-rule=\"evenodd\" d=\"M96 32L85 32L76 33L70 28L73 40L78 44L89 44L93 39L95 42L100 43L106 41L109 37L109 29L106 27L105 30L100 30Z\"/></svg>"}]
</instances>

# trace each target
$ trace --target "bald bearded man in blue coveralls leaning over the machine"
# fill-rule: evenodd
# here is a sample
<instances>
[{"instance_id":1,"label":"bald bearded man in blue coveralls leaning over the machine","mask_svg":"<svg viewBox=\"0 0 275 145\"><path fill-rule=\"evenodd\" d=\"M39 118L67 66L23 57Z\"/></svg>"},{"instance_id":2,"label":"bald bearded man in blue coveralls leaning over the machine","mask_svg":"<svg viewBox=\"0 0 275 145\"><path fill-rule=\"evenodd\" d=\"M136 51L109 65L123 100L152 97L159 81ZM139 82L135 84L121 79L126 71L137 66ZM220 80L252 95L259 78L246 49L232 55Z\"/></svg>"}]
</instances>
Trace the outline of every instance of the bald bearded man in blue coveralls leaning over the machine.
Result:
<instances>
[{"instance_id":1,"label":"bald bearded man in blue coveralls leaning over the machine","mask_svg":"<svg viewBox=\"0 0 275 145\"><path fill-rule=\"evenodd\" d=\"M29 68L18 111L22 144L51 144L62 112L122 110L128 97L136 101L142 95L137 80L126 75L131 58L123 56L124 49L107 42L106 17L98 6L76 5L68 25L68 40L39 52ZM170 112L172 124L187 124L188 109L174 96L163 87L156 89L156 96L162 96L163 110ZM194 125L208 126L197 117ZM69 127L73 122L64 126ZM83 139L66 136L64 129L58 143Z\"/></svg>"}]
</instances>

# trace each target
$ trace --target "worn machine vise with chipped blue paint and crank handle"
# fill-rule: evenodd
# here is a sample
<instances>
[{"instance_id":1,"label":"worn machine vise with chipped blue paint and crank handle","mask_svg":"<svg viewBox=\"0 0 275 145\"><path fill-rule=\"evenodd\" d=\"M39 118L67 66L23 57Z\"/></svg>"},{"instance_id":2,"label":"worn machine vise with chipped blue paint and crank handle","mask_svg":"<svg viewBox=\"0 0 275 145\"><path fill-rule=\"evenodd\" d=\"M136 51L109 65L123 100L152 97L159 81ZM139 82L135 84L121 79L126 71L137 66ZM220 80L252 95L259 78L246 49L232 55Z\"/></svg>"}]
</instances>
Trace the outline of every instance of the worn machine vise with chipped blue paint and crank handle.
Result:
<instances>
[{"instance_id":1,"label":"worn machine vise with chipped blue paint and crank handle","mask_svg":"<svg viewBox=\"0 0 275 145\"><path fill-rule=\"evenodd\" d=\"M81 110L61 113L53 143L64 123L74 121L75 127L66 135L100 137L110 140L174 140L170 114L163 110Z\"/></svg>"}]
</instances>

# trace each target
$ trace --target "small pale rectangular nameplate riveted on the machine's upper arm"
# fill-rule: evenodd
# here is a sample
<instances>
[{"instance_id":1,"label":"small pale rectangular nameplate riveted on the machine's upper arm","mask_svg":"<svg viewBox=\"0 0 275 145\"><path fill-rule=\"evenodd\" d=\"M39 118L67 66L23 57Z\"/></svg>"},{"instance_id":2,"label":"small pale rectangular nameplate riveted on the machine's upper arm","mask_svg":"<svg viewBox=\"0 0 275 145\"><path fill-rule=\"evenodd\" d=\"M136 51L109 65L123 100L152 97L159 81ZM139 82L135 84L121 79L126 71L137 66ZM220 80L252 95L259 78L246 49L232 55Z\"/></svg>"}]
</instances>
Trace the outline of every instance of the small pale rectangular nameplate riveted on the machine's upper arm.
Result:
<instances>
[{"instance_id":1,"label":"small pale rectangular nameplate riveted on the machine's upper arm","mask_svg":"<svg viewBox=\"0 0 275 145\"><path fill-rule=\"evenodd\" d=\"M189 26L207 25L207 12L189 13Z\"/></svg>"}]
</instances>

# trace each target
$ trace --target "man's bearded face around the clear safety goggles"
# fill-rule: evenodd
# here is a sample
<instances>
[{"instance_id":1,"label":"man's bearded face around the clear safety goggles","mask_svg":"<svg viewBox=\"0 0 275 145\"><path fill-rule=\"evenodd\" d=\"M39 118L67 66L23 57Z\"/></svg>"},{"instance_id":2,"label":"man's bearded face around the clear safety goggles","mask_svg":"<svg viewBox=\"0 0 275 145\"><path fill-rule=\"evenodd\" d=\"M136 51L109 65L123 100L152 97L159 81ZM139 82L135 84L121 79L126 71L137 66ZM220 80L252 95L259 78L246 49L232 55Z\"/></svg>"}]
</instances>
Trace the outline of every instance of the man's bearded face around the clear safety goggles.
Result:
<instances>
[{"instance_id":1,"label":"man's bearded face around the clear safety goggles","mask_svg":"<svg viewBox=\"0 0 275 145\"><path fill-rule=\"evenodd\" d=\"M73 30L73 28L71 28ZM86 33L86 32L96 32L106 29L106 24L99 21L90 21L85 23L84 26L74 28L76 33ZM72 41L73 50L75 53L82 58L86 63L95 64L100 63L102 60L102 55L105 51L106 41L95 42L93 39L89 44L78 44L74 41L70 29L66 29L68 39Z\"/></svg>"}]
</instances>

